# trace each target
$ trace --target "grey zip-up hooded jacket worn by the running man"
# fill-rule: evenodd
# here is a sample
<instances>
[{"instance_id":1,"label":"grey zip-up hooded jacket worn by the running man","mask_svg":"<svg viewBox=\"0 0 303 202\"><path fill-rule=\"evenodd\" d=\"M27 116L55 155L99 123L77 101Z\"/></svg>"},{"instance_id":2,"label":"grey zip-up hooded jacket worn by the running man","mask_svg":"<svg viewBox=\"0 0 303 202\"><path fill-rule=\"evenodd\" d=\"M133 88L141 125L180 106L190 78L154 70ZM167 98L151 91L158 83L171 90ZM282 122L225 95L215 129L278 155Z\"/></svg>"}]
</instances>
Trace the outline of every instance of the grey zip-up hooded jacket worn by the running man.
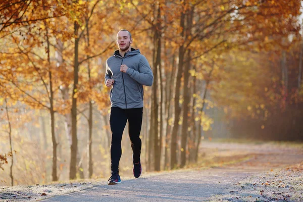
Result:
<instances>
[{"instance_id":1,"label":"grey zip-up hooded jacket worn by the running man","mask_svg":"<svg viewBox=\"0 0 303 202\"><path fill-rule=\"evenodd\" d=\"M126 73L120 72L120 66L124 64L128 67ZM108 79L115 81L110 91L111 107L131 109L143 107L142 85L151 86L154 75L139 49L131 48L124 58L116 51L107 59L105 83Z\"/></svg>"}]
</instances>

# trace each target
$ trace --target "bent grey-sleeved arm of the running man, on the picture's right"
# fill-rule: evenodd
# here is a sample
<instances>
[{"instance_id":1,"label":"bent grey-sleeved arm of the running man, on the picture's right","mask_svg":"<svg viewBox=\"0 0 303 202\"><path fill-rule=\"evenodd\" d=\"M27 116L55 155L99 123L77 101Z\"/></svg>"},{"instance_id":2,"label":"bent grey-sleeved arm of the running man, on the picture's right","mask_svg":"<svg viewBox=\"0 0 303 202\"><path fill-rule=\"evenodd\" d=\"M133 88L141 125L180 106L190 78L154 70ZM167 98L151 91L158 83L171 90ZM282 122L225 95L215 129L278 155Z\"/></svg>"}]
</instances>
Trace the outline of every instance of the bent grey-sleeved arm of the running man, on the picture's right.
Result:
<instances>
[{"instance_id":1,"label":"bent grey-sleeved arm of the running man, on the picture's right","mask_svg":"<svg viewBox=\"0 0 303 202\"><path fill-rule=\"evenodd\" d=\"M144 56L142 56L141 60L139 61L139 72L128 68L126 73L142 85L151 86L153 84L154 75L150 69L148 61Z\"/></svg>"}]
</instances>

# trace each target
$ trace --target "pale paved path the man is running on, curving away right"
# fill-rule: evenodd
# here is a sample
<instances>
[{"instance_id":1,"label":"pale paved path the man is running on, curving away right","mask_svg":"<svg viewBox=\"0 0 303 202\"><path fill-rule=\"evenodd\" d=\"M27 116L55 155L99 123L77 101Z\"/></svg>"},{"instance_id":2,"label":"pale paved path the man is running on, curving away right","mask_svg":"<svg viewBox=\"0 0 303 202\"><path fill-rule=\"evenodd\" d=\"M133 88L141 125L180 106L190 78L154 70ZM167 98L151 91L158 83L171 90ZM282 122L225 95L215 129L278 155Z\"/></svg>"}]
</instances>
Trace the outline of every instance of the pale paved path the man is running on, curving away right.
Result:
<instances>
[{"instance_id":1,"label":"pale paved path the man is running on, curving away right","mask_svg":"<svg viewBox=\"0 0 303 202\"><path fill-rule=\"evenodd\" d=\"M228 194L232 185L258 172L268 172L303 161L302 148L252 145L248 149L247 145L226 144L224 147L220 143L218 149L222 152L242 149L243 153L255 156L222 168L173 171L146 178L142 174L138 179L124 181L122 177L119 185L108 186L104 183L43 201L207 201L213 195Z\"/></svg>"}]
</instances>

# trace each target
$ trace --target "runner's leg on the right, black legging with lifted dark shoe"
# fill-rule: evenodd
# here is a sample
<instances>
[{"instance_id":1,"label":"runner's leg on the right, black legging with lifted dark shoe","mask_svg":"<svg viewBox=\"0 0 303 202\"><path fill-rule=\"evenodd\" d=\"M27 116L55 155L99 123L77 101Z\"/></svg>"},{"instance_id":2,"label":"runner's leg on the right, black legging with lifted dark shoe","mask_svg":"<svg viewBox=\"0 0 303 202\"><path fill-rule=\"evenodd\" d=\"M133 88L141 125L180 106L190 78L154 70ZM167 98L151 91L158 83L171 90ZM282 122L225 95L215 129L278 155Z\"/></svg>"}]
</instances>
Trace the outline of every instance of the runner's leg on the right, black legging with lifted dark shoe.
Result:
<instances>
[{"instance_id":1,"label":"runner's leg on the right, black legging with lifted dark shoe","mask_svg":"<svg viewBox=\"0 0 303 202\"><path fill-rule=\"evenodd\" d=\"M133 174L136 178L141 175L141 139L140 132L142 126L143 108L127 109L128 134L133 150Z\"/></svg>"}]
</instances>

